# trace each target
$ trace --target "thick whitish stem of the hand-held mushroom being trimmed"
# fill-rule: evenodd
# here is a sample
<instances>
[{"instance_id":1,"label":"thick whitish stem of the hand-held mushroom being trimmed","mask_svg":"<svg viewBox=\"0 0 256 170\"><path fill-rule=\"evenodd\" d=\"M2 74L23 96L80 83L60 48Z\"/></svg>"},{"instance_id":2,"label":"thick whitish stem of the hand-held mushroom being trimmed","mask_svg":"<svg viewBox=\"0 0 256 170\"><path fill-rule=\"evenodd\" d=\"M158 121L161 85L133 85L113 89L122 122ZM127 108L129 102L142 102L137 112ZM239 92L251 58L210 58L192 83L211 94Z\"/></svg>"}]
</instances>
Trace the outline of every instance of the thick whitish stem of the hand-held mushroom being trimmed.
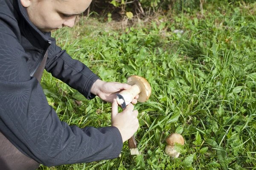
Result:
<instances>
[{"instance_id":1,"label":"thick whitish stem of the hand-held mushroom being trimmed","mask_svg":"<svg viewBox=\"0 0 256 170\"><path fill-rule=\"evenodd\" d=\"M129 90L123 90L119 94L124 97L125 104L128 105L137 94L140 94L140 92L142 92L141 86L139 84L134 84Z\"/></svg>"}]
</instances>

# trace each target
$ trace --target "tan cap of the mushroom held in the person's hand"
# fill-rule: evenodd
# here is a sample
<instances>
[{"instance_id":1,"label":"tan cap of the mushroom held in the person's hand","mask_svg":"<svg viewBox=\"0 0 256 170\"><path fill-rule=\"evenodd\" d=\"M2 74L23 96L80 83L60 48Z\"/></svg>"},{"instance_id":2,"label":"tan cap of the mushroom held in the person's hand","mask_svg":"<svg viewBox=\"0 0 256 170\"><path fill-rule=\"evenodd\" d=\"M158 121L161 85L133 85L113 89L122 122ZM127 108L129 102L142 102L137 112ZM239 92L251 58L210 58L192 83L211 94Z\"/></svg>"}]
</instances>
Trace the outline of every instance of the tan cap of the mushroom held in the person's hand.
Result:
<instances>
[{"instance_id":1,"label":"tan cap of the mushroom held in the person's hand","mask_svg":"<svg viewBox=\"0 0 256 170\"><path fill-rule=\"evenodd\" d=\"M151 95L151 86L146 79L143 77L132 75L127 79L128 85L138 84L142 88L142 92L139 94L138 102L145 102Z\"/></svg>"}]
</instances>

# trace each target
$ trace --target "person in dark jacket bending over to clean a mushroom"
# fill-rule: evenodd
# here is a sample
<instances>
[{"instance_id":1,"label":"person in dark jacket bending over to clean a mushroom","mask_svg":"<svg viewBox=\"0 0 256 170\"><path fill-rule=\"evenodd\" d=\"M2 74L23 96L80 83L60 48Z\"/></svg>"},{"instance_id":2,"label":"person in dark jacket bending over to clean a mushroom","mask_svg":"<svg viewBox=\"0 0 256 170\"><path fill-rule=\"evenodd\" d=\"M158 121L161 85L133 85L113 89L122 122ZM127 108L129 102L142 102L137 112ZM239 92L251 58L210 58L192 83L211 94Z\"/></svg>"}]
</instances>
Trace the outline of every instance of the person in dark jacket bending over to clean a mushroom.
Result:
<instances>
[{"instance_id":1,"label":"person in dark jacket bending over to clean a mushroom","mask_svg":"<svg viewBox=\"0 0 256 170\"><path fill-rule=\"evenodd\" d=\"M0 0L0 167L34 170L40 164L85 163L119 156L138 129L138 111L118 113L116 93L131 88L103 82L56 45L51 32L73 27L91 0ZM112 102L111 126L69 126L49 106L40 80L44 69L87 99ZM136 104L138 96L133 100Z\"/></svg>"}]
</instances>

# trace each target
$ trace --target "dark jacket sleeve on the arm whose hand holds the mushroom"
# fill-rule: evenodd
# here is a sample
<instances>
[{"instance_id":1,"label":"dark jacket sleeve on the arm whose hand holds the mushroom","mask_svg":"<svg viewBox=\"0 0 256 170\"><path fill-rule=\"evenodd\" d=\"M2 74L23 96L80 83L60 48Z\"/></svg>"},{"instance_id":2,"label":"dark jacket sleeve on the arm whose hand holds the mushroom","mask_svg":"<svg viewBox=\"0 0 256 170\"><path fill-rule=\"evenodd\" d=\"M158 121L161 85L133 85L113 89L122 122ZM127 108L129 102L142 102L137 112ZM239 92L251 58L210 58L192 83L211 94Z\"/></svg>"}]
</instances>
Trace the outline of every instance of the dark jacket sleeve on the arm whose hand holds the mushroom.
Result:
<instances>
[{"instance_id":1,"label":"dark jacket sleeve on the arm whose hand holds the mushroom","mask_svg":"<svg viewBox=\"0 0 256 170\"><path fill-rule=\"evenodd\" d=\"M52 44L48 48L45 66L47 72L78 90L87 99L93 99L95 95L90 93L90 89L99 77L79 60L72 59L66 50L58 47L54 38L50 37L50 40Z\"/></svg>"}]
</instances>

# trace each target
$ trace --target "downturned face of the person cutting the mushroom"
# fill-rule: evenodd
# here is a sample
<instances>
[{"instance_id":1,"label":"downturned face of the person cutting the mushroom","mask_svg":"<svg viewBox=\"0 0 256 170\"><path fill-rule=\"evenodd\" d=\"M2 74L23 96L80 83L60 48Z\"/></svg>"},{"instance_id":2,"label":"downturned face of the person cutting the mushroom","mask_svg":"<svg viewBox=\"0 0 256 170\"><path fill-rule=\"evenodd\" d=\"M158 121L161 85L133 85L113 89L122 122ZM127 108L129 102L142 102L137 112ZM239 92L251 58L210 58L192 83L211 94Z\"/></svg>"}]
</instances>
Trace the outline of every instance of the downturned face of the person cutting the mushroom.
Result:
<instances>
[{"instance_id":1,"label":"downturned face of the person cutting the mushroom","mask_svg":"<svg viewBox=\"0 0 256 170\"><path fill-rule=\"evenodd\" d=\"M92 0L20 0L29 19L41 31L73 27L76 15L84 12Z\"/></svg>"}]
</instances>

